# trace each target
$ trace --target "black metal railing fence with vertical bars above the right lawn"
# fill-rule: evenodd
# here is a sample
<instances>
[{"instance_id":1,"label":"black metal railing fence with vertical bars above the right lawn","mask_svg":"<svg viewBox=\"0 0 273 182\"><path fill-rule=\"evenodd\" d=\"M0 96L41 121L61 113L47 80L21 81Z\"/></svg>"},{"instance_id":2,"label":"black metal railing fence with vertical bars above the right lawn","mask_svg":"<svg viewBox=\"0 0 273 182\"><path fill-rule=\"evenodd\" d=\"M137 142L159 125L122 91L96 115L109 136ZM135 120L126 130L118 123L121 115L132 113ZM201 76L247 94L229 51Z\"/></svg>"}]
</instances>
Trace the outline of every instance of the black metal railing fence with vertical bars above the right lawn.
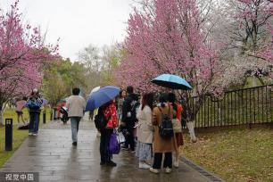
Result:
<instances>
[{"instance_id":1,"label":"black metal railing fence with vertical bars above the right lawn","mask_svg":"<svg viewBox=\"0 0 273 182\"><path fill-rule=\"evenodd\" d=\"M195 128L272 123L272 89L269 85L227 91L221 98L205 96Z\"/></svg>"}]
</instances>

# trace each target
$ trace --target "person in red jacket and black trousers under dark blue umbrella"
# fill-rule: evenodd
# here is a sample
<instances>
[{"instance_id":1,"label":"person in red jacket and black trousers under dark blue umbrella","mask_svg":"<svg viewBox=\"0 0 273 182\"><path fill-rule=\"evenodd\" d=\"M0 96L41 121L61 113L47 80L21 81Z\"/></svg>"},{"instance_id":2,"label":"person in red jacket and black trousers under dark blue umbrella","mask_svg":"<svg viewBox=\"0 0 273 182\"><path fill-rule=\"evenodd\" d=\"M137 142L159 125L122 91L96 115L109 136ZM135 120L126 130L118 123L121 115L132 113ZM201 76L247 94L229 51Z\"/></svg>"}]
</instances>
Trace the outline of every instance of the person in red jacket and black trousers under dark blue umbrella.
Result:
<instances>
[{"instance_id":1,"label":"person in red jacket and black trousers under dark blue umbrella","mask_svg":"<svg viewBox=\"0 0 273 182\"><path fill-rule=\"evenodd\" d=\"M112 153L109 153L109 143L110 137L112 135L113 129L117 128L118 113L116 105L113 101L103 104L98 110L98 114L103 114L105 120L107 120L107 125L105 128L100 129L101 132L101 143L100 143L100 153L101 153L101 163L100 165L117 166L112 159Z\"/></svg>"}]
</instances>

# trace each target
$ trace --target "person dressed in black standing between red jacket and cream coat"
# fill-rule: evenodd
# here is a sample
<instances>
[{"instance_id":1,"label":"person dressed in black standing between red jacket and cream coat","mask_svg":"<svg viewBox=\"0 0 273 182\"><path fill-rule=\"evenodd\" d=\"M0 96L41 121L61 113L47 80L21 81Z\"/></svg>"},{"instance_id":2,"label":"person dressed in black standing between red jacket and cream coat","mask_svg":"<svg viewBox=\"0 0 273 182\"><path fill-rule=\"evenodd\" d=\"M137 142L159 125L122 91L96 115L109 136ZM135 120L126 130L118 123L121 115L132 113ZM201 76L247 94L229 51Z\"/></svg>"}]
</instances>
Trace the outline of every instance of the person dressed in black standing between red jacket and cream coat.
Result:
<instances>
[{"instance_id":1,"label":"person dressed in black standing between red jacket and cream coat","mask_svg":"<svg viewBox=\"0 0 273 182\"><path fill-rule=\"evenodd\" d=\"M134 94L134 87L127 87L127 97L125 97L122 105L122 117L121 126L125 129L125 145L124 149L128 149L135 152L135 138L134 138L134 127L136 125L136 106L138 104L138 96Z\"/></svg>"}]
</instances>

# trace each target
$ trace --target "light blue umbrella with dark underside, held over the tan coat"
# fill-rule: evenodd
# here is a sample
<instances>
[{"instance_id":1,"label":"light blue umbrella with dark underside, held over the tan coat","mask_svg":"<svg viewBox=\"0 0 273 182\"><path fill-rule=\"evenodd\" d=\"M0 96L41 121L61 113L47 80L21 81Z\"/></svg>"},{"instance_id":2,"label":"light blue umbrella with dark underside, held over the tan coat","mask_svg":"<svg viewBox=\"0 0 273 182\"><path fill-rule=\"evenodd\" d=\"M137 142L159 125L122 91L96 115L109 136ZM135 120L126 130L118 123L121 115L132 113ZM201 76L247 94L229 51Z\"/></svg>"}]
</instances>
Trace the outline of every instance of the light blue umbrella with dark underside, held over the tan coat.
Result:
<instances>
[{"instance_id":1,"label":"light blue umbrella with dark underside, held over the tan coat","mask_svg":"<svg viewBox=\"0 0 273 182\"><path fill-rule=\"evenodd\" d=\"M161 87L169 87L172 89L183 89L183 90L190 90L193 89L185 79L177 75L171 74L162 74L157 78L152 80L152 83L161 86Z\"/></svg>"}]
</instances>

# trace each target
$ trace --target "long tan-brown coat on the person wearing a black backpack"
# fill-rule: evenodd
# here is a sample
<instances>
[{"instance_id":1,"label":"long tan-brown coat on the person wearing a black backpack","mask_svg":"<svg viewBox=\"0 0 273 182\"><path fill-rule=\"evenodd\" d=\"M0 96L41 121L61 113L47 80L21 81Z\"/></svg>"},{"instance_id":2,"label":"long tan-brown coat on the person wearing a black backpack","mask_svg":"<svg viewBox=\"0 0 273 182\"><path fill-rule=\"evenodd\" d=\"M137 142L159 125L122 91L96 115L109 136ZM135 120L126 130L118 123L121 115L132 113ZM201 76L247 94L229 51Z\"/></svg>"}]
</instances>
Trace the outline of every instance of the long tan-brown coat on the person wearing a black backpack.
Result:
<instances>
[{"instance_id":1,"label":"long tan-brown coat on the person wearing a black backpack","mask_svg":"<svg viewBox=\"0 0 273 182\"><path fill-rule=\"evenodd\" d=\"M170 108L170 119L173 116L173 109L171 106L161 107L161 111L164 114L168 114ZM153 125L154 135L153 135L153 153L171 153L176 149L175 137L162 138L159 134L159 125L161 125L161 111L158 107L153 108Z\"/></svg>"}]
</instances>

